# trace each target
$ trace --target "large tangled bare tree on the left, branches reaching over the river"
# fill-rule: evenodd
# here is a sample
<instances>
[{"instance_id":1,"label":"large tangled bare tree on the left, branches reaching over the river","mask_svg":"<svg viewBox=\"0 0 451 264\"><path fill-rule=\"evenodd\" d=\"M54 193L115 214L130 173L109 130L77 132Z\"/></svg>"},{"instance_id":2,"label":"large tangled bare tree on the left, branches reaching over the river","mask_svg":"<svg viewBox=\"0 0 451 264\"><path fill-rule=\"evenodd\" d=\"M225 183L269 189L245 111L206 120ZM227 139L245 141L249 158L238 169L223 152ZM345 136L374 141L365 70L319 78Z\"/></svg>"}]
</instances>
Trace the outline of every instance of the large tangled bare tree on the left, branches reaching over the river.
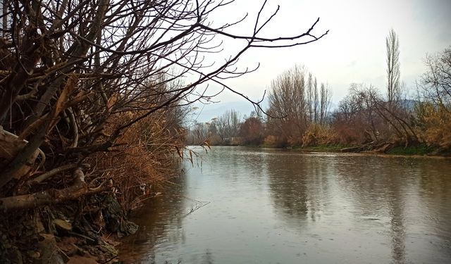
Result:
<instances>
[{"instance_id":1,"label":"large tangled bare tree on the left, branches reaching over the river","mask_svg":"<svg viewBox=\"0 0 451 264\"><path fill-rule=\"evenodd\" d=\"M24 182L113 151L121 146L121 135L140 120L208 98L206 90L196 90L207 82L252 101L224 82L252 71L235 66L245 51L307 44L327 34L314 35L316 20L306 32L261 36L278 13L277 8L263 18L266 1L249 34L229 32L242 20L213 27L214 11L233 2L4 0L0 149L9 151L0 152L1 196L30 195L26 204L12 204L32 206L37 196L27 188L18 191ZM218 36L236 39L242 48L223 63L205 65L205 56L222 49ZM189 84L183 81L186 75L193 77ZM94 171L93 176L101 174ZM34 190L48 188L43 184ZM39 204L54 201L46 197Z\"/></svg>"}]
</instances>

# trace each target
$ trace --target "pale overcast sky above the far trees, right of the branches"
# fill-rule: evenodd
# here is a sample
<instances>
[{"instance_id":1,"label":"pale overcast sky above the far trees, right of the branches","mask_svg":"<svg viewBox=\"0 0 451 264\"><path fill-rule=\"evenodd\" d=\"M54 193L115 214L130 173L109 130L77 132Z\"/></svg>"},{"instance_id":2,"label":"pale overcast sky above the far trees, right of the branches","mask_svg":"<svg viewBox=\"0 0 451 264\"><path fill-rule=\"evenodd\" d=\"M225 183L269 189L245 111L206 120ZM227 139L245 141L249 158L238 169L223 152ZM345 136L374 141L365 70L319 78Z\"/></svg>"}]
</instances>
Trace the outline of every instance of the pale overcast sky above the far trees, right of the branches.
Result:
<instances>
[{"instance_id":1,"label":"pale overcast sky above the far trees, right of the branches","mask_svg":"<svg viewBox=\"0 0 451 264\"><path fill-rule=\"evenodd\" d=\"M244 23L230 29L240 34L253 28L255 14L261 0L237 0L233 6L223 8L211 17L220 25L233 22L249 13ZM393 27L400 40L401 80L407 89L415 89L415 80L424 72L424 57L435 54L451 45L451 0L268 0L266 15L280 5L280 11L261 36L280 37L305 32L316 18L320 18L314 33L329 33L319 42L287 49L254 49L247 51L239 66L255 66L250 73L226 84L259 99L269 88L271 80L292 65L305 65L319 82L327 82L333 92L333 103L338 103L352 82L373 84L385 90L385 37ZM219 56L240 46L240 42L226 42L226 49ZM212 57L213 58L213 57ZM214 58L218 59L218 58ZM215 89L210 87L210 89ZM216 97L215 103L203 108L200 121L213 118L218 111L237 106L250 111L230 92ZM238 103L240 104L240 103Z\"/></svg>"}]
</instances>

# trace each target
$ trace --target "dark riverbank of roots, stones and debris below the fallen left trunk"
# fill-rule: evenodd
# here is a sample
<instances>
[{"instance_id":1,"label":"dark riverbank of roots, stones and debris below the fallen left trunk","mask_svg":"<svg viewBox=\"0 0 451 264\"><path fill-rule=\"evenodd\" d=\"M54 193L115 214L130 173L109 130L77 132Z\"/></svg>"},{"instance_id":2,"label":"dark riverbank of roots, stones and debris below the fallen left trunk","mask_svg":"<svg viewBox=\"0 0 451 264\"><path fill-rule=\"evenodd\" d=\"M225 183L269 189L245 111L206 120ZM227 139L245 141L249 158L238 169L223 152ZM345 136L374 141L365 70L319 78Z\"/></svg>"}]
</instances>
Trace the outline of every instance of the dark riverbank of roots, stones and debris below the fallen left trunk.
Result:
<instances>
[{"instance_id":1,"label":"dark riverbank of roots, stones and debris below the fallen left trunk","mask_svg":"<svg viewBox=\"0 0 451 264\"><path fill-rule=\"evenodd\" d=\"M14 211L0 220L0 263L109 263L119 239L138 230L113 194Z\"/></svg>"}]
</instances>

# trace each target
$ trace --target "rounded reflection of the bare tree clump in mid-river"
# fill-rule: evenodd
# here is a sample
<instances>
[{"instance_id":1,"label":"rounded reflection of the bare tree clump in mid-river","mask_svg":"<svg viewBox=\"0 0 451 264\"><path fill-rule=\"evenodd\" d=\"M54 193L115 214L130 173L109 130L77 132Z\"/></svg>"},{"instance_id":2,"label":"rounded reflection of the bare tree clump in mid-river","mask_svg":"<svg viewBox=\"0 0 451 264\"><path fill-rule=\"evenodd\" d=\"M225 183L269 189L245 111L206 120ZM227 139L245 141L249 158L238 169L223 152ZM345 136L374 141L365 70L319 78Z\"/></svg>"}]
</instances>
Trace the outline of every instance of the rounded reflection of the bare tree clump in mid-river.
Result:
<instances>
[{"instance_id":1,"label":"rounded reflection of the bare tree clump in mid-river","mask_svg":"<svg viewBox=\"0 0 451 264\"><path fill-rule=\"evenodd\" d=\"M288 154L269 156L268 185L278 215L299 226L319 220L328 200L328 168L323 156Z\"/></svg>"}]
</instances>

